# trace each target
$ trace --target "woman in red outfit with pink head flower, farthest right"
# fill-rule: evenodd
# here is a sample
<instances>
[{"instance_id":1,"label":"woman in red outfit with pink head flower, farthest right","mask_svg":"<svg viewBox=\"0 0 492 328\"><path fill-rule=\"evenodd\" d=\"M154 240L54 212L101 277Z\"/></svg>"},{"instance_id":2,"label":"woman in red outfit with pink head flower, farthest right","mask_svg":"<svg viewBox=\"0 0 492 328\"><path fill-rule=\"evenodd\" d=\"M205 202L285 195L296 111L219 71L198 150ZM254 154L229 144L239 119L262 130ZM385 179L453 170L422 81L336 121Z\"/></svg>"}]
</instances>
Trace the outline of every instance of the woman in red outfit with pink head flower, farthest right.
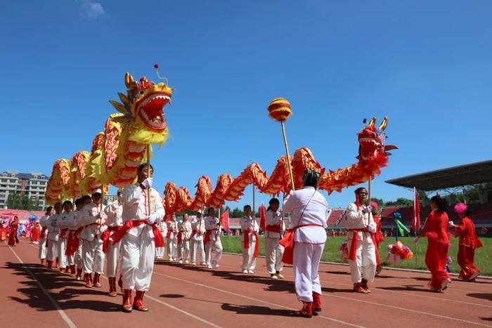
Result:
<instances>
[{"instance_id":1,"label":"woman in red outfit with pink head flower, farthest right","mask_svg":"<svg viewBox=\"0 0 492 328\"><path fill-rule=\"evenodd\" d=\"M463 203L455 205L455 211L460 214L461 225L455 225L450 221L449 225L455 232L455 237L460 237L460 247L458 249L458 264L461 272L459 278L462 280L474 280L480 274L480 270L473 264L475 249L482 247L477 230L473 224L470 214L472 211Z\"/></svg>"}]
</instances>

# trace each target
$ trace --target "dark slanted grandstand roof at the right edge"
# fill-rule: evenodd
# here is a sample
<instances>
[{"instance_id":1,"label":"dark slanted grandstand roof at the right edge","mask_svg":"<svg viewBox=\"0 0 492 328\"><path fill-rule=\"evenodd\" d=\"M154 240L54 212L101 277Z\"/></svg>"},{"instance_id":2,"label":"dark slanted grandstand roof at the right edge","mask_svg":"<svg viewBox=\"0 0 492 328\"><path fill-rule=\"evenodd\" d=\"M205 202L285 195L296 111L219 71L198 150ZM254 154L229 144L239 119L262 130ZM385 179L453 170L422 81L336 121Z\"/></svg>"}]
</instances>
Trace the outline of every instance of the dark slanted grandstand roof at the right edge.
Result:
<instances>
[{"instance_id":1,"label":"dark slanted grandstand roof at the right edge","mask_svg":"<svg viewBox=\"0 0 492 328\"><path fill-rule=\"evenodd\" d=\"M453 166L447 169L429 171L413 176L403 176L402 178L386 181L386 183L391 183L391 185L399 185L406 188L415 187L417 190L423 191L442 190L488 182L492 182L492 160Z\"/></svg>"}]
</instances>

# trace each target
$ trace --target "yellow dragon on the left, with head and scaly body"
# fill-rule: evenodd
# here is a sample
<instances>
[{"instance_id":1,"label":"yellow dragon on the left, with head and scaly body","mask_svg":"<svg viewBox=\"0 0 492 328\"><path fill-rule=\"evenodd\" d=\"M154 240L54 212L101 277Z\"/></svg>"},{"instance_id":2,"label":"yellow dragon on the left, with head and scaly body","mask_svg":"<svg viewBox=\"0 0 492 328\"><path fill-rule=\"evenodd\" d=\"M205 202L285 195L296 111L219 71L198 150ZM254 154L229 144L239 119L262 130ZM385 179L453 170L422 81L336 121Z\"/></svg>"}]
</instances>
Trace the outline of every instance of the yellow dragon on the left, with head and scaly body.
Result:
<instances>
[{"instance_id":1,"label":"yellow dragon on the left, with head and scaly body","mask_svg":"<svg viewBox=\"0 0 492 328\"><path fill-rule=\"evenodd\" d=\"M46 188L48 204L81 195L108 185L124 187L134 183L147 145L163 144L167 124L163 108L171 100L172 89L145 77L136 81L125 74L127 94L110 101L119 113L106 120L104 131L93 139L91 152L77 152L72 159L53 164Z\"/></svg>"}]
</instances>

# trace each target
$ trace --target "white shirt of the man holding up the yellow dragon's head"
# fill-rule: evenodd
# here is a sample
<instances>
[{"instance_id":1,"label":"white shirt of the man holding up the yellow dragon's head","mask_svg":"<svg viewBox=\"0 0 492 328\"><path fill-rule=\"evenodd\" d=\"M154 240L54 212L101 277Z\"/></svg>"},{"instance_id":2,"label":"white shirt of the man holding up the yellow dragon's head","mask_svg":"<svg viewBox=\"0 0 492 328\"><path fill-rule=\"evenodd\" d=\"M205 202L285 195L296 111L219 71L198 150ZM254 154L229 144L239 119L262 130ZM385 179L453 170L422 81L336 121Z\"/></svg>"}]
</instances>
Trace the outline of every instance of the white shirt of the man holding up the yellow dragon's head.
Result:
<instances>
[{"instance_id":1,"label":"white shirt of the man holding up the yellow dragon's head","mask_svg":"<svg viewBox=\"0 0 492 328\"><path fill-rule=\"evenodd\" d=\"M147 204L147 190L143 190L140 183L134 183L133 185L127 185L122 192L122 219L126 221L140 221L147 220L151 214L157 214L156 223L160 223L164 218L164 206L162 205L162 197L160 193L154 188L150 188L150 213L148 213ZM147 229L149 236L154 237L152 227L148 224L142 223L138 227L127 230L127 234L137 237L141 235L143 229Z\"/></svg>"}]
</instances>

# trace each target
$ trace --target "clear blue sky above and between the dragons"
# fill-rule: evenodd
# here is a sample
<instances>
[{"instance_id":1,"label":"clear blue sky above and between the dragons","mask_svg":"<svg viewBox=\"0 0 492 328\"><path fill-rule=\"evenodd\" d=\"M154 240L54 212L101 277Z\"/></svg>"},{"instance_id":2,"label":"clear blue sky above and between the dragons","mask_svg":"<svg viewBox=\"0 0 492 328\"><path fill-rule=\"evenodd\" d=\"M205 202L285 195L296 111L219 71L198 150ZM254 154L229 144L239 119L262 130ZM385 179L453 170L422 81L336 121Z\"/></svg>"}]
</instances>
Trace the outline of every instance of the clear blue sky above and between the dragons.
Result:
<instances>
[{"instance_id":1,"label":"clear blue sky above and between the dragons","mask_svg":"<svg viewBox=\"0 0 492 328\"><path fill-rule=\"evenodd\" d=\"M290 150L327 169L356 162L363 118L389 117L398 145L384 183L491 159L490 1L8 1L0 12L0 171L51 173L90 150L124 91L124 73L176 88L155 187L190 190L283 155L271 99L292 103ZM346 206L354 188L328 197ZM258 202L268 197L259 196ZM251 202L251 188L238 206ZM234 207L236 204L228 202Z\"/></svg>"}]
</instances>

